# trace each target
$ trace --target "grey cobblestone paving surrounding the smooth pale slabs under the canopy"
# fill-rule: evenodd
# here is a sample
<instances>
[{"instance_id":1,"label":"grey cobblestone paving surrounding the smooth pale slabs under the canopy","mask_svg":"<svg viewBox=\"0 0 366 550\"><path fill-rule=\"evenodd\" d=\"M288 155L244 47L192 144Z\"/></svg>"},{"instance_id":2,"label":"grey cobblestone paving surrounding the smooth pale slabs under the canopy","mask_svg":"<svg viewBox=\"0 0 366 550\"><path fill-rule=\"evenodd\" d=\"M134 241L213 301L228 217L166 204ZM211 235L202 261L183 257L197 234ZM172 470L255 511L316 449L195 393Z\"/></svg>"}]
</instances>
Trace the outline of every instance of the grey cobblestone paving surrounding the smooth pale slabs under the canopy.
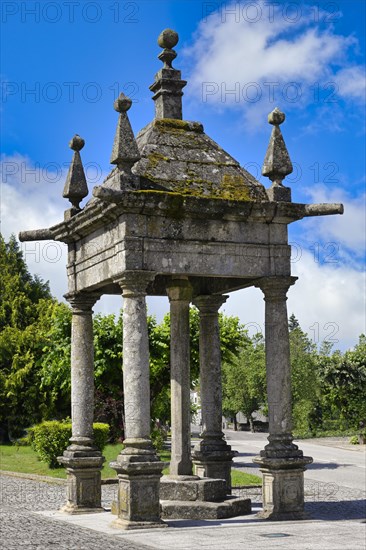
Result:
<instances>
[{"instance_id":1,"label":"grey cobblestone paving surrounding the smooth pale slabs under the canopy","mask_svg":"<svg viewBox=\"0 0 366 550\"><path fill-rule=\"evenodd\" d=\"M117 485L102 487L103 506L110 508ZM261 502L259 488L238 489L236 494ZM365 492L335 484L305 482L306 510L316 520L362 520ZM34 512L58 510L64 503L65 484L54 484L0 475L0 541L3 550L142 550L143 544L99 534L54 521Z\"/></svg>"}]
</instances>

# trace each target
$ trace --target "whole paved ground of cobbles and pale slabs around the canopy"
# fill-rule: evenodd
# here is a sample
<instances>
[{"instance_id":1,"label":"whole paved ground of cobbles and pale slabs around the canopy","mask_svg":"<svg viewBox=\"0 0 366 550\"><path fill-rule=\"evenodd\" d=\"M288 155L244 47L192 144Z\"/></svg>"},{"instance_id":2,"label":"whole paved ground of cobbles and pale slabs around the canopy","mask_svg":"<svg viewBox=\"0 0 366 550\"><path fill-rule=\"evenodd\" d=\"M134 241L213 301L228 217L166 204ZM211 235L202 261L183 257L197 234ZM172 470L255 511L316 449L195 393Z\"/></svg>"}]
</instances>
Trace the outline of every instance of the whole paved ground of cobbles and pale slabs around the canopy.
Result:
<instances>
[{"instance_id":1,"label":"whole paved ground of cobbles and pale slabs around the canopy","mask_svg":"<svg viewBox=\"0 0 366 550\"><path fill-rule=\"evenodd\" d=\"M361 481L361 480L360 480ZM103 505L110 507L116 486L102 489ZM4 550L365 550L365 487L344 487L307 479L303 522L263 522L258 489L240 490L252 498L251 516L220 521L169 521L167 529L139 532L110 527L110 513L61 516L65 484L0 476L0 542Z\"/></svg>"}]
</instances>

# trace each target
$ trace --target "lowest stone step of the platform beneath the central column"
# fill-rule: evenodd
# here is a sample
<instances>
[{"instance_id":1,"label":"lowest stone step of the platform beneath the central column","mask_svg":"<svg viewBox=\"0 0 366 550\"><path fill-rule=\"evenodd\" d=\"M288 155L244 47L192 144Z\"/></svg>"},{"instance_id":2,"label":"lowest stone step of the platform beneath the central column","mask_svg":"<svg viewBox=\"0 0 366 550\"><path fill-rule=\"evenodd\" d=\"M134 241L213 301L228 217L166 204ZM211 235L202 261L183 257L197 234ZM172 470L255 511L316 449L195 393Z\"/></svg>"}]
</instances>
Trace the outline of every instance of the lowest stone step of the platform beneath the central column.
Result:
<instances>
[{"instance_id":1,"label":"lowest stone step of the platform beneath the central column","mask_svg":"<svg viewBox=\"0 0 366 550\"><path fill-rule=\"evenodd\" d=\"M245 516L252 511L249 498L230 497L222 502L205 501L160 501L164 519L226 519Z\"/></svg>"}]
</instances>

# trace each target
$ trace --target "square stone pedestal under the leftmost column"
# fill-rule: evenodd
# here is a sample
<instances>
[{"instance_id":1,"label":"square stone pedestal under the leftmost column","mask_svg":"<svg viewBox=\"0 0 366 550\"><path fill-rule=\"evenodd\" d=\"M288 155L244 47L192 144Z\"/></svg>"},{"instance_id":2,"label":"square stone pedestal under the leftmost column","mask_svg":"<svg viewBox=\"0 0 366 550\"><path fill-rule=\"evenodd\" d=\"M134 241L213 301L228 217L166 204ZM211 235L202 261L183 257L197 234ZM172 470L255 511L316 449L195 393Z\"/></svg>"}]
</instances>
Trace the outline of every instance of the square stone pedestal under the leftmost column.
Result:
<instances>
[{"instance_id":1,"label":"square stone pedestal under the leftmost column","mask_svg":"<svg viewBox=\"0 0 366 550\"><path fill-rule=\"evenodd\" d=\"M64 456L58 458L67 471L67 503L61 508L63 513L86 514L104 511L101 505L101 469L104 457L99 451L90 451L92 452L96 456L75 457L72 451L66 450Z\"/></svg>"}]
</instances>

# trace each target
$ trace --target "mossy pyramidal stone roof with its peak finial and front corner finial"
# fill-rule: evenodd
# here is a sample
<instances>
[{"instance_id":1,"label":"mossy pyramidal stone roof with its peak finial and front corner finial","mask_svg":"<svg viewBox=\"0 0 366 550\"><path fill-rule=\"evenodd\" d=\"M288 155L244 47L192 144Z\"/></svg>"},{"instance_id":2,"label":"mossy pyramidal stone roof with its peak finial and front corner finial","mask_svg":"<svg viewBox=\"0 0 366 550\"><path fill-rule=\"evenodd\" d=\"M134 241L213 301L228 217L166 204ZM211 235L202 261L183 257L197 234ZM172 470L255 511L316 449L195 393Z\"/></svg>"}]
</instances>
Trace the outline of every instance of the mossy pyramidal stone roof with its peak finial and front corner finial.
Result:
<instances>
[{"instance_id":1,"label":"mossy pyramidal stone roof with its peak finial and front corner finial","mask_svg":"<svg viewBox=\"0 0 366 550\"><path fill-rule=\"evenodd\" d=\"M164 48L159 55L164 66L150 86L154 93L155 118L138 134L135 143L141 158L137 160L134 153L129 177L125 174L124 178L121 178L118 161L125 162L127 151L131 151L132 134L127 117L131 101L122 97L123 94L116 100L115 109L121 117L111 161L119 165L119 170L114 169L102 187L150 189L211 199L268 201L264 186L207 136L202 124L182 120L182 88L186 81L181 80L181 72L172 67L177 55L172 47L177 42L177 33L170 29L158 38L158 44ZM118 153L118 147L124 147L125 156Z\"/></svg>"}]
</instances>

